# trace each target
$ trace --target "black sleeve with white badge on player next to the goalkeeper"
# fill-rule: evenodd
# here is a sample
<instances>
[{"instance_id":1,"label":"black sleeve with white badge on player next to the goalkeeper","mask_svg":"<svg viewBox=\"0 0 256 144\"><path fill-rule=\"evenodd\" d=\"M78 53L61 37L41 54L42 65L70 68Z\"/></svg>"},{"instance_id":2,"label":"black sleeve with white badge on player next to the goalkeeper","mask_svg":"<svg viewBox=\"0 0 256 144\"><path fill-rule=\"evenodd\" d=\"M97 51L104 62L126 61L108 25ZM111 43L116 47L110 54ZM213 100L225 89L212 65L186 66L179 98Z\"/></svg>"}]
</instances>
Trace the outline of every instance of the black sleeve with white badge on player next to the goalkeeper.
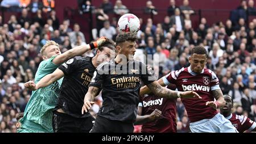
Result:
<instances>
[{"instance_id":1,"label":"black sleeve with white badge on player next to the goalkeeper","mask_svg":"<svg viewBox=\"0 0 256 144\"><path fill-rule=\"evenodd\" d=\"M77 65L79 65L79 61L74 57L69 59L68 61L62 63L58 68L63 71L65 75L71 74L74 70L76 70Z\"/></svg>"}]
</instances>

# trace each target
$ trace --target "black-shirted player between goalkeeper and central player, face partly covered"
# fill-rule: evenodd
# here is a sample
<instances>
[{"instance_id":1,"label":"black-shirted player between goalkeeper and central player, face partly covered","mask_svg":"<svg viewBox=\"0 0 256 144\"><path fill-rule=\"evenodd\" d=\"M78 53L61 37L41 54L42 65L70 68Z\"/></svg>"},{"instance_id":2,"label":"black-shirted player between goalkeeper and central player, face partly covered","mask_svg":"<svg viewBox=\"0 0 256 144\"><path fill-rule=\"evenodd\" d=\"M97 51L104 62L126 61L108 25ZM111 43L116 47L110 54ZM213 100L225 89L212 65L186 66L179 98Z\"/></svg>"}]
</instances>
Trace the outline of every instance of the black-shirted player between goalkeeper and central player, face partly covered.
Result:
<instances>
[{"instance_id":1,"label":"black-shirted player between goalkeeper and central player, face partly covered","mask_svg":"<svg viewBox=\"0 0 256 144\"><path fill-rule=\"evenodd\" d=\"M94 57L77 56L64 62L52 74L46 75L38 83L36 89L63 78L57 106L53 111L53 132L89 132L94 118L90 113L81 114L84 96L96 67L104 61L110 60L110 53L114 53L114 41L107 39L99 46ZM112 54L113 54L112 53ZM114 56L114 54L113 54Z\"/></svg>"}]
</instances>

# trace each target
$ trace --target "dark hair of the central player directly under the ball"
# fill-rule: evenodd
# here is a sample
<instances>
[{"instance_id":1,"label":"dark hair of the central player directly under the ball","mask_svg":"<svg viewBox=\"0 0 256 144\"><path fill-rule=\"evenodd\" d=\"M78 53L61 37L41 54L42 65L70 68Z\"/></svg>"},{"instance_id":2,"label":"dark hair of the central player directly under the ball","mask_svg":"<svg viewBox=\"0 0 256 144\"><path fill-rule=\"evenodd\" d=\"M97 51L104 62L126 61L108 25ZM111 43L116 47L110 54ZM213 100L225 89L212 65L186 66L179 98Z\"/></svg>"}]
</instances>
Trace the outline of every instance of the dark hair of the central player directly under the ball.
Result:
<instances>
[{"instance_id":1,"label":"dark hair of the central player directly under the ball","mask_svg":"<svg viewBox=\"0 0 256 144\"><path fill-rule=\"evenodd\" d=\"M135 33L130 33L130 32L122 32L117 35L117 38L115 39L116 45L119 45L125 41L137 41L137 36Z\"/></svg>"}]
</instances>

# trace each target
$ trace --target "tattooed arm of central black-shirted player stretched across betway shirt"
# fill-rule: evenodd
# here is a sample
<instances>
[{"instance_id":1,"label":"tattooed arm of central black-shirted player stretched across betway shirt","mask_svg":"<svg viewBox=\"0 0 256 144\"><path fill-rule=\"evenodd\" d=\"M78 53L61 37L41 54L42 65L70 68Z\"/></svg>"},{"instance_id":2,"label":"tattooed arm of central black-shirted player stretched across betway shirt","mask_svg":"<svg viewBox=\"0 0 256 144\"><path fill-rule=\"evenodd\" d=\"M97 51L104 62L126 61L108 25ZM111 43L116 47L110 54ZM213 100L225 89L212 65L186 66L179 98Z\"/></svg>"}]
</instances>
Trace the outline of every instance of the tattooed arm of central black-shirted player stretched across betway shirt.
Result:
<instances>
[{"instance_id":1,"label":"tattooed arm of central black-shirted player stretched across betway shirt","mask_svg":"<svg viewBox=\"0 0 256 144\"><path fill-rule=\"evenodd\" d=\"M172 91L166 87L160 86L160 84L156 81L147 84L148 88L155 95L167 98L167 99L176 99L176 98L197 98L202 99L195 91Z\"/></svg>"}]
</instances>

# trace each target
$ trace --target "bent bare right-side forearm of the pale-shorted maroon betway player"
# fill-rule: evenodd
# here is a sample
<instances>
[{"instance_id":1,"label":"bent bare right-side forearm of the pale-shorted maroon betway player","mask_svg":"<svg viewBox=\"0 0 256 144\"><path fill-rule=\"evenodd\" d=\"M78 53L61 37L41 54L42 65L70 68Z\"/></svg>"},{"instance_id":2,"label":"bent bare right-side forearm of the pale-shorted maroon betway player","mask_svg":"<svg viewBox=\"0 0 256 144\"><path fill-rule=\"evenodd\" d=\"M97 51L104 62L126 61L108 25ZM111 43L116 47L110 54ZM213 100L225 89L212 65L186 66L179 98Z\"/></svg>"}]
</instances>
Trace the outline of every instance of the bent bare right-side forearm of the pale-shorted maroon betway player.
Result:
<instances>
[{"instance_id":1,"label":"bent bare right-side forearm of the pale-shorted maroon betway player","mask_svg":"<svg viewBox=\"0 0 256 144\"><path fill-rule=\"evenodd\" d=\"M223 98L222 91L220 89L212 91L213 97L216 101L207 101L205 105L209 105L209 107L213 107L214 109L221 108L225 106L225 99Z\"/></svg>"}]
</instances>

